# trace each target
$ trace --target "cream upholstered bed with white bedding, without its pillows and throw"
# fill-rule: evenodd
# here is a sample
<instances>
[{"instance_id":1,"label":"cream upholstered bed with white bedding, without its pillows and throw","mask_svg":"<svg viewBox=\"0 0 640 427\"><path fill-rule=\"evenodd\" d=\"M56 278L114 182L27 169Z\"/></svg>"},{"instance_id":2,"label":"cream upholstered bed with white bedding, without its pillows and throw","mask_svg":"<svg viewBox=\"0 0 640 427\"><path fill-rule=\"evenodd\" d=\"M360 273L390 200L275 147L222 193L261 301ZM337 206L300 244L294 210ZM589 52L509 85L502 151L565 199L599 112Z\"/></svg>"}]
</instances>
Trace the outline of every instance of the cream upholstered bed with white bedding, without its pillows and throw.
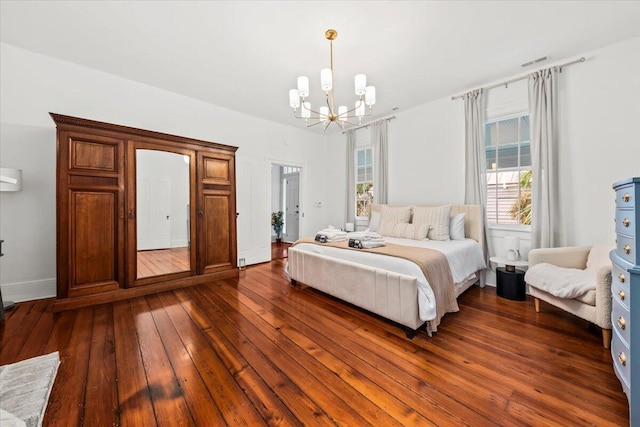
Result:
<instances>
[{"instance_id":1,"label":"cream upholstered bed with white bedding, without its pillows and throw","mask_svg":"<svg viewBox=\"0 0 640 427\"><path fill-rule=\"evenodd\" d=\"M375 212L379 214L388 210L387 206L408 207L374 205L372 216L376 215ZM433 207L414 206L412 209L418 212L420 208ZM337 247L339 244L319 244L312 242L313 239L301 239L289 248L287 275L293 285L312 287L403 325L410 338L421 328L431 335L445 313L458 311L455 299L462 292L476 283L484 286L486 264L482 250L484 228L481 207L450 206L451 218L462 213L464 238L435 241L385 236L389 247L402 246L412 252L420 251L415 248L421 247L444 254L453 281L445 290L438 286L439 283L429 283L424 265L420 267L397 255ZM448 293L444 302L443 292Z\"/></svg>"}]
</instances>

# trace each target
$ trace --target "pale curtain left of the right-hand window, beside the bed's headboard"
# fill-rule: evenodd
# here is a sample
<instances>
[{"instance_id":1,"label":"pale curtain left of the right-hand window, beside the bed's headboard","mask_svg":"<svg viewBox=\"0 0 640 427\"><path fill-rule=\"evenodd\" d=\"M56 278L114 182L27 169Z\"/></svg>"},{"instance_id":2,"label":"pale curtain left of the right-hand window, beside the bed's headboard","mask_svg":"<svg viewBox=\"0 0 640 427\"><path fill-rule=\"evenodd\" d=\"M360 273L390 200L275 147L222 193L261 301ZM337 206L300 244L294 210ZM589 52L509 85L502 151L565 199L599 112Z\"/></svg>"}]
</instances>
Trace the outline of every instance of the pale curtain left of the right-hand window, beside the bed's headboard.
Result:
<instances>
[{"instance_id":1,"label":"pale curtain left of the right-hand window, beside the bed's headboard","mask_svg":"<svg viewBox=\"0 0 640 427\"><path fill-rule=\"evenodd\" d=\"M487 222L487 170L484 146L485 99L484 90L477 89L462 96L465 117L465 187L464 202L482 206L484 242L481 242L485 261L493 254Z\"/></svg>"}]
</instances>

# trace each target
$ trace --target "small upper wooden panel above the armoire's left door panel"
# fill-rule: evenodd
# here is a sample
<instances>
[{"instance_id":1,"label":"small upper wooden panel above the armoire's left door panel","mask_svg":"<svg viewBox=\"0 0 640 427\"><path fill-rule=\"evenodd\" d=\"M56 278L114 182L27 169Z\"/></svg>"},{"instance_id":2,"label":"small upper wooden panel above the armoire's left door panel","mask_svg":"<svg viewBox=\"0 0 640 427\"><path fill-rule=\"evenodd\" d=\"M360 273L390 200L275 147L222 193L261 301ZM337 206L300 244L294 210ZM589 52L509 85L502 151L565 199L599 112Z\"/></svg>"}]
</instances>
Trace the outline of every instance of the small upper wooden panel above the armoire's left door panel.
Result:
<instances>
[{"instance_id":1,"label":"small upper wooden panel above the armoire's left door panel","mask_svg":"<svg viewBox=\"0 0 640 427\"><path fill-rule=\"evenodd\" d=\"M69 134L69 170L119 173L122 142L115 138Z\"/></svg>"}]
</instances>

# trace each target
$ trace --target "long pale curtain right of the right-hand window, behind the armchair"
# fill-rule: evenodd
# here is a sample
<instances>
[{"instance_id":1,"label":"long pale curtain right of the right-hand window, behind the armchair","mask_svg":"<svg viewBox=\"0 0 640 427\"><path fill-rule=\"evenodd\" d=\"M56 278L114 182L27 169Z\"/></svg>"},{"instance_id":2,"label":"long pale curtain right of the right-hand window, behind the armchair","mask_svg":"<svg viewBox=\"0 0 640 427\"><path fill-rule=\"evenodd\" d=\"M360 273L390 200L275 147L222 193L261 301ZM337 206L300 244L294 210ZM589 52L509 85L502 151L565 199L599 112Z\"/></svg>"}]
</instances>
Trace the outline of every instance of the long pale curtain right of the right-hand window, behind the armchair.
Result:
<instances>
[{"instance_id":1,"label":"long pale curtain right of the right-hand window, behind the armchair","mask_svg":"<svg viewBox=\"0 0 640 427\"><path fill-rule=\"evenodd\" d=\"M558 70L529 75L531 132L531 249L565 245L558 182Z\"/></svg>"}]
</instances>

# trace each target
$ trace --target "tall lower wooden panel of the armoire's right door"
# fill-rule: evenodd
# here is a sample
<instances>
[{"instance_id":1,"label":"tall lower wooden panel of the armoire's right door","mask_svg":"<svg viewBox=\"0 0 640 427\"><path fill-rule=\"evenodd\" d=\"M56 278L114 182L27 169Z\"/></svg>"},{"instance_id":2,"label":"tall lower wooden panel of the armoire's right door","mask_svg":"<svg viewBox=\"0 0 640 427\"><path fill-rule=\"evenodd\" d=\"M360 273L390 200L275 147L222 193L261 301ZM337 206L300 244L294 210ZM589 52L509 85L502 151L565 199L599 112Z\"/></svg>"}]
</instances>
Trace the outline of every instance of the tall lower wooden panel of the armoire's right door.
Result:
<instances>
[{"instance_id":1,"label":"tall lower wooden panel of the armoire's right door","mask_svg":"<svg viewBox=\"0 0 640 427\"><path fill-rule=\"evenodd\" d=\"M231 254L229 207L228 193L203 196L203 273L228 269L235 261Z\"/></svg>"}]
</instances>

